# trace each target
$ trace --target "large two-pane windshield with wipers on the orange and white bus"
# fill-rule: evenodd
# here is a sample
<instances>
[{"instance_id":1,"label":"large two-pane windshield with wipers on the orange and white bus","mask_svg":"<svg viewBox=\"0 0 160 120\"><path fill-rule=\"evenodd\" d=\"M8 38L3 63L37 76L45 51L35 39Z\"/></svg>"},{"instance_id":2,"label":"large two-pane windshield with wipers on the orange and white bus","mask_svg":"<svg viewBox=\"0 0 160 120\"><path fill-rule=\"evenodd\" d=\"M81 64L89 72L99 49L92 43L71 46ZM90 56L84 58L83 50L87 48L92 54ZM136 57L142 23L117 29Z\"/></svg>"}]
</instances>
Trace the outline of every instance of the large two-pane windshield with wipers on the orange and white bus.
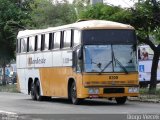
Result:
<instances>
[{"instance_id":1,"label":"large two-pane windshield with wipers on the orange and white bus","mask_svg":"<svg viewBox=\"0 0 160 120\"><path fill-rule=\"evenodd\" d=\"M84 56L85 72L137 71L133 45L86 45Z\"/></svg>"}]
</instances>

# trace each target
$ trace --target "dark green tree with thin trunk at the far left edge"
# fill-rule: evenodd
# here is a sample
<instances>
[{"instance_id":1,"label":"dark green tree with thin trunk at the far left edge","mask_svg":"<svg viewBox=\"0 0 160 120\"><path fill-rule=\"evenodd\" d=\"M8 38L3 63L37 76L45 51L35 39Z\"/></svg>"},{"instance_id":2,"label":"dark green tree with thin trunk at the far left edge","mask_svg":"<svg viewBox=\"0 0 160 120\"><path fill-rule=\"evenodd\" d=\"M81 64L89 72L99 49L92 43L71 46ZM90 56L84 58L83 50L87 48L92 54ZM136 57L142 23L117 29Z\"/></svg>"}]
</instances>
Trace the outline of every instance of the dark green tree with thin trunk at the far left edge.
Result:
<instances>
[{"instance_id":1,"label":"dark green tree with thin trunk at the far left edge","mask_svg":"<svg viewBox=\"0 0 160 120\"><path fill-rule=\"evenodd\" d=\"M11 0L0 0L0 66L3 68L3 84L5 84L5 67L15 59L16 31L9 23L22 23L25 14ZM17 30L17 29L16 29Z\"/></svg>"}]
</instances>

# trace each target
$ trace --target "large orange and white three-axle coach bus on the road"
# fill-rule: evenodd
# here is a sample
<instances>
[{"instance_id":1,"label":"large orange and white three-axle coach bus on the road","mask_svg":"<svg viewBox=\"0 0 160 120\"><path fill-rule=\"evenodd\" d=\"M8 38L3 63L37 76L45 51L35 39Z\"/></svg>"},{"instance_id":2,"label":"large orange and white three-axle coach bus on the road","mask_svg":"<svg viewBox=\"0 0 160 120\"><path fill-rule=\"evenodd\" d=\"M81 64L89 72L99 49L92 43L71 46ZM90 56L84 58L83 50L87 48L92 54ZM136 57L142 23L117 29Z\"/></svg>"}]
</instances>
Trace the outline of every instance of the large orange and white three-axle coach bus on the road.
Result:
<instances>
[{"instance_id":1,"label":"large orange and white three-axle coach bus on the road","mask_svg":"<svg viewBox=\"0 0 160 120\"><path fill-rule=\"evenodd\" d=\"M130 25L86 20L17 36L17 85L33 100L73 104L105 98L124 104L138 96L137 40Z\"/></svg>"}]
</instances>

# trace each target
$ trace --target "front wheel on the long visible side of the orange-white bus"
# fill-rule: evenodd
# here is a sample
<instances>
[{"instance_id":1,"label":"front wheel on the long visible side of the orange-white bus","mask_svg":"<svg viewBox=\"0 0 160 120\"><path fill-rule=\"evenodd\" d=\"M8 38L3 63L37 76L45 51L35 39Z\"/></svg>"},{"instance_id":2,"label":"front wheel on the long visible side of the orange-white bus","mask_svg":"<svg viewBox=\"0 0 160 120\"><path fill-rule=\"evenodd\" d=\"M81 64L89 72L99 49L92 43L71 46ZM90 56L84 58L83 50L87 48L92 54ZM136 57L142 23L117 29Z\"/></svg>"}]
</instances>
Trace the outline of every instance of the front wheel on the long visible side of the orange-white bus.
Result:
<instances>
[{"instance_id":1,"label":"front wheel on the long visible side of the orange-white bus","mask_svg":"<svg viewBox=\"0 0 160 120\"><path fill-rule=\"evenodd\" d=\"M77 98L77 88L76 88L76 83L75 82L72 82L72 85L71 85L71 88L70 88L70 99L71 99L71 102L74 104L74 105L78 105L80 104L81 102L81 99L80 98Z\"/></svg>"}]
</instances>

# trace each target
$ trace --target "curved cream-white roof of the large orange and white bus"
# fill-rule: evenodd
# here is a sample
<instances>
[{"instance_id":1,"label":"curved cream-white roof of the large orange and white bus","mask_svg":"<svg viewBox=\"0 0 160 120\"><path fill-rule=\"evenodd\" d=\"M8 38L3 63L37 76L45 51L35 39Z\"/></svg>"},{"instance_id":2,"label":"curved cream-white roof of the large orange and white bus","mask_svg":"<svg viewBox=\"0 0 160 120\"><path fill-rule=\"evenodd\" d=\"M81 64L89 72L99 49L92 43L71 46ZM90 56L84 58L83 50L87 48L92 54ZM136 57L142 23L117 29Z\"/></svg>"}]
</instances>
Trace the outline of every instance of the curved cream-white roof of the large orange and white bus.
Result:
<instances>
[{"instance_id":1,"label":"curved cream-white roof of the large orange and white bus","mask_svg":"<svg viewBox=\"0 0 160 120\"><path fill-rule=\"evenodd\" d=\"M77 29L134 29L130 25L106 21L106 20L87 20L80 21L68 25L58 26L58 27L49 27L47 29L37 29L37 30L23 30L19 31L17 38L32 36L35 34L49 33L55 30L62 30L67 28L77 28Z\"/></svg>"}]
</instances>

